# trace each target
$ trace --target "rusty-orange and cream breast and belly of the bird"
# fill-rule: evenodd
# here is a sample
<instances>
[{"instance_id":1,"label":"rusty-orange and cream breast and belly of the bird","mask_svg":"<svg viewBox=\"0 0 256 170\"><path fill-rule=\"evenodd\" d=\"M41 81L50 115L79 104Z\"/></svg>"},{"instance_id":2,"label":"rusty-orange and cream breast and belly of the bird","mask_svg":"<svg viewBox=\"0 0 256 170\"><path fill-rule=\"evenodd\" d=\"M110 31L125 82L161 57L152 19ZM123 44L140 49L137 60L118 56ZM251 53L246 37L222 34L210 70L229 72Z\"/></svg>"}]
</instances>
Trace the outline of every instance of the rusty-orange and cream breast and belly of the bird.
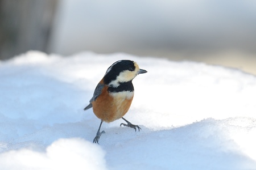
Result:
<instances>
[{"instance_id":1,"label":"rusty-orange and cream breast and belly of the bird","mask_svg":"<svg viewBox=\"0 0 256 170\"><path fill-rule=\"evenodd\" d=\"M133 92L109 94L108 87L92 102L94 114L105 122L112 122L123 117L129 110Z\"/></svg>"}]
</instances>

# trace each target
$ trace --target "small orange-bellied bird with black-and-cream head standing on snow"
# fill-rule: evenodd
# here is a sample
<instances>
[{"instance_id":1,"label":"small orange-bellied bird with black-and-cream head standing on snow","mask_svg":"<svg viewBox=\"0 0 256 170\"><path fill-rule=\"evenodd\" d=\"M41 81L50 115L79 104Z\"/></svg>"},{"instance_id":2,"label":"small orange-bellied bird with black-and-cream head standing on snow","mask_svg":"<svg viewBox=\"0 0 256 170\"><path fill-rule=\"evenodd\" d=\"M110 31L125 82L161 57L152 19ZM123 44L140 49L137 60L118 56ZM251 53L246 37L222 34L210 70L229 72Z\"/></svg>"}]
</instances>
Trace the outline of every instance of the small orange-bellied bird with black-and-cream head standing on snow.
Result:
<instances>
[{"instance_id":1,"label":"small orange-bellied bird with black-and-cream head standing on snow","mask_svg":"<svg viewBox=\"0 0 256 170\"><path fill-rule=\"evenodd\" d=\"M84 111L93 108L93 113L101 120L93 143L98 143L101 135L105 133L104 130L100 132L102 122L109 123L122 118L126 124L122 123L120 126L127 126L135 131L136 128L141 129L138 125L131 124L123 116L128 112L134 96L132 80L135 76L143 73L147 73L147 71L139 69L136 62L127 59L114 62L106 70L104 77L94 90L89 105L84 108Z\"/></svg>"}]
</instances>

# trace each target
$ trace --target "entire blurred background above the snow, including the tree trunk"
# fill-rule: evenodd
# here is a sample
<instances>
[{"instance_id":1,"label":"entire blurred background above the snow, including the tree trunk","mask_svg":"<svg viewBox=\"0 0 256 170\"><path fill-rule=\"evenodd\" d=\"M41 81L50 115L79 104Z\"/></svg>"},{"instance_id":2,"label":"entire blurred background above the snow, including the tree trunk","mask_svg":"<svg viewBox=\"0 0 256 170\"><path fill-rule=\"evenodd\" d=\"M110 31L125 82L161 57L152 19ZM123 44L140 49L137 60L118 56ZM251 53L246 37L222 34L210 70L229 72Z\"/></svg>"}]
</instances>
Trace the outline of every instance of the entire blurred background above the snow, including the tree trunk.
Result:
<instances>
[{"instance_id":1,"label":"entire blurred background above the snow, including the tree trunk","mask_svg":"<svg viewBox=\"0 0 256 170\"><path fill-rule=\"evenodd\" d=\"M0 59L129 53L256 75L255 0L0 0Z\"/></svg>"}]
</instances>

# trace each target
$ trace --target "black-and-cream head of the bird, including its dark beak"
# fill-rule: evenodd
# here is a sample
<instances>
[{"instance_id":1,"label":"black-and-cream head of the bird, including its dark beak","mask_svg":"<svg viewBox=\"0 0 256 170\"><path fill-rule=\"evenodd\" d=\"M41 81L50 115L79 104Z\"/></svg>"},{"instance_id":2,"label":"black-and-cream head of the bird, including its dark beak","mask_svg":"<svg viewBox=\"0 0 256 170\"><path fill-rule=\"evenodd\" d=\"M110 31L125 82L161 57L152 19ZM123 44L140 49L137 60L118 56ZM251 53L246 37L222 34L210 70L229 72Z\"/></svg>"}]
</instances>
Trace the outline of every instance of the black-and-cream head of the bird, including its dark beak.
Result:
<instances>
[{"instance_id":1,"label":"black-and-cream head of the bird, including its dark beak","mask_svg":"<svg viewBox=\"0 0 256 170\"><path fill-rule=\"evenodd\" d=\"M130 82L138 74L147 73L139 69L136 62L131 60L119 60L111 65L104 75L104 84L118 87L120 83Z\"/></svg>"}]
</instances>

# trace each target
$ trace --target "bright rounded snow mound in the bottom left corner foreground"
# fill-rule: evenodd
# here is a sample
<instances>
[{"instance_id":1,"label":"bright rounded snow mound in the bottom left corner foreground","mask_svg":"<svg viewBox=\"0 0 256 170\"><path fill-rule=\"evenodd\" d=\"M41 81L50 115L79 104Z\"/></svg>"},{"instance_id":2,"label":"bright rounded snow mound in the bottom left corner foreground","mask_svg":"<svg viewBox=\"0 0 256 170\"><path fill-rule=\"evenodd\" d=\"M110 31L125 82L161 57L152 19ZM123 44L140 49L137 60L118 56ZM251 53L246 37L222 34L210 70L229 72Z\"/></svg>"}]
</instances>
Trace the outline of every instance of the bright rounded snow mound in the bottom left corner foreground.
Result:
<instances>
[{"instance_id":1,"label":"bright rounded snow mound in the bottom left corner foreground","mask_svg":"<svg viewBox=\"0 0 256 170\"><path fill-rule=\"evenodd\" d=\"M1 169L106 169L104 151L82 139L59 139L39 152L23 148L0 155Z\"/></svg>"}]
</instances>

